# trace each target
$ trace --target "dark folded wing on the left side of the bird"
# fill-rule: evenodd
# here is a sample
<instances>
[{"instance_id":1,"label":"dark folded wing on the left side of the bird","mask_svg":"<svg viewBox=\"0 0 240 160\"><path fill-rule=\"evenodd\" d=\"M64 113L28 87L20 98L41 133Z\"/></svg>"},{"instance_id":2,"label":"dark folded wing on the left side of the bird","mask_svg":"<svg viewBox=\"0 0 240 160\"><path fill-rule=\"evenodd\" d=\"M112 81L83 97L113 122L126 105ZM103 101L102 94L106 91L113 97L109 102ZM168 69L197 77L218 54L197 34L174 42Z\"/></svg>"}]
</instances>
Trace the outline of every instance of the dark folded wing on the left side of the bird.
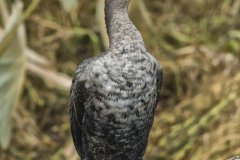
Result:
<instances>
[{"instance_id":1,"label":"dark folded wing on the left side of the bird","mask_svg":"<svg viewBox=\"0 0 240 160\"><path fill-rule=\"evenodd\" d=\"M69 115L73 142L78 154L84 156L84 142L82 138L82 122L85 114L84 104L89 97L85 88L84 76L89 72L87 67L91 65L95 58L85 60L80 64L73 77L70 89Z\"/></svg>"}]
</instances>

